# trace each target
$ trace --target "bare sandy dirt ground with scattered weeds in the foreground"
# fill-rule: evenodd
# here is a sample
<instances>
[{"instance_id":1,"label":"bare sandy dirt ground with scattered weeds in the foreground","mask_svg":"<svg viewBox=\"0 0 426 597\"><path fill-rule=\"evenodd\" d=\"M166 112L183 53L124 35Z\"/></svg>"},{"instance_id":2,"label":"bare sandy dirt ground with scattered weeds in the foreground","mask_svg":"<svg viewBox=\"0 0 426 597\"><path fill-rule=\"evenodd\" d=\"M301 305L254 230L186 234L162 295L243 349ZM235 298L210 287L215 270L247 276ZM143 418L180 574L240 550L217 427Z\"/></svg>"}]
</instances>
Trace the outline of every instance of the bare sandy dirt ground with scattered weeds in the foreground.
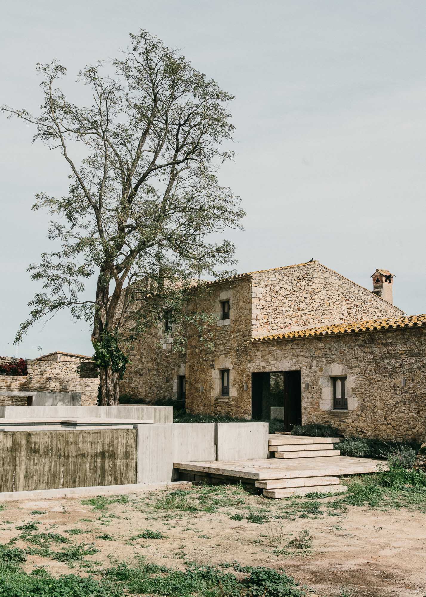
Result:
<instances>
[{"instance_id":1,"label":"bare sandy dirt ground with scattered weeds in the foreground","mask_svg":"<svg viewBox=\"0 0 426 597\"><path fill-rule=\"evenodd\" d=\"M161 507L159 500L170 495L177 496L172 498L177 506L172 502ZM16 501L3 504L0 540L7 543L17 537L17 525L38 521L42 532L61 533L73 543L84 541L100 549L85 558L92 564L75 564L74 573L87 573L88 565L95 573L114 560L143 555L149 562L181 569L189 561L273 567L327 597L340 595L344 585L353 587L357 597L426 595L426 513L359 506L333 510L328 506L334 500L268 500L241 486L203 489L183 484L130 494L128 503L100 503L100 509L95 509L96 500L82 504L83 498ZM185 504L197 509L186 510ZM261 513L264 521L251 522L245 518L250 513ZM74 529L82 532L67 533ZM165 538L130 540L145 529ZM289 547L305 529L312 538L311 549ZM29 546L22 540L15 544ZM67 564L29 555L25 570L37 566L55 575L71 572Z\"/></svg>"}]
</instances>

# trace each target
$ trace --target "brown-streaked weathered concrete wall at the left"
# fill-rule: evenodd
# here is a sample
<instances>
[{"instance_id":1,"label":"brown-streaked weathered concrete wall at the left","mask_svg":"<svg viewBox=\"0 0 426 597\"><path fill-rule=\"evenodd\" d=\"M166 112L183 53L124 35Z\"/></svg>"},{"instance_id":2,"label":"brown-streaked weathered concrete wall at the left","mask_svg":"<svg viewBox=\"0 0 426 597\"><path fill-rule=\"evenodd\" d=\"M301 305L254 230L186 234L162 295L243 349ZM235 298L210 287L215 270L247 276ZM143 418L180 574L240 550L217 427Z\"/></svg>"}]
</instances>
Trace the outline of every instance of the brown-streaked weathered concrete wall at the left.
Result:
<instances>
[{"instance_id":1,"label":"brown-streaked weathered concrete wall at the left","mask_svg":"<svg viewBox=\"0 0 426 597\"><path fill-rule=\"evenodd\" d=\"M4 431L0 491L136 482L134 429Z\"/></svg>"}]
</instances>

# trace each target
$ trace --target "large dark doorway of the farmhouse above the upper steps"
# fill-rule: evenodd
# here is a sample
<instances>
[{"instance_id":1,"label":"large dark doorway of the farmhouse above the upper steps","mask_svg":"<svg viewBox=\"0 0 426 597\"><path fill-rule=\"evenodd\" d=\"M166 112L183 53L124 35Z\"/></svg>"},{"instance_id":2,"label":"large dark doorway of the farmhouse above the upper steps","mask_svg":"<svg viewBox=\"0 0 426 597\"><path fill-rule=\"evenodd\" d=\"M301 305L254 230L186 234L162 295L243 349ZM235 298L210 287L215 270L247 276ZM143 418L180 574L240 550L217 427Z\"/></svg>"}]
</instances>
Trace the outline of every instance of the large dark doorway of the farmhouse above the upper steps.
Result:
<instances>
[{"instance_id":1,"label":"large dark doorway of the farmhouse above the upper steps","mask_svg":"<svg viewBox=\"0 0 426 597\"><path fill-rule=\"evenodd\" d=\"M251 387L252 418L280 418L286 431L301 424L300 371L252 373Z\"/></svg>"}]
</instances>

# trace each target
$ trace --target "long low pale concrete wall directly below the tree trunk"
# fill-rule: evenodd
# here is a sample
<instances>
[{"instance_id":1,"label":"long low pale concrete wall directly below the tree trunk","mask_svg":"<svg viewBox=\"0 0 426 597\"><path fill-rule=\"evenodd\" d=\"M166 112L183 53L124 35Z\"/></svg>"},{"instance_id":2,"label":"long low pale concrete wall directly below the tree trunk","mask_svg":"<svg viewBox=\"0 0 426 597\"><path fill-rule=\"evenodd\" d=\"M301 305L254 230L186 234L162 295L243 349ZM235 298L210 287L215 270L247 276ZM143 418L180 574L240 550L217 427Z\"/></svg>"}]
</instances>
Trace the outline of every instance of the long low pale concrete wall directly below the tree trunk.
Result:
<instances>
[{"instance_id":1,"label":"long low pale concrete wall directly below the tree trunk","mask_svg":"<svg viewBox=\"0 0 426 597\"><path fill-rule=\"evenodd\" d=\"M146 404L129 404L118 407L11 407L0 406L1 418L133 418L155 423L172 423L173 407L155 407ZM0 421L1 422L1 421Z\"/></svg>"}]
</instances>

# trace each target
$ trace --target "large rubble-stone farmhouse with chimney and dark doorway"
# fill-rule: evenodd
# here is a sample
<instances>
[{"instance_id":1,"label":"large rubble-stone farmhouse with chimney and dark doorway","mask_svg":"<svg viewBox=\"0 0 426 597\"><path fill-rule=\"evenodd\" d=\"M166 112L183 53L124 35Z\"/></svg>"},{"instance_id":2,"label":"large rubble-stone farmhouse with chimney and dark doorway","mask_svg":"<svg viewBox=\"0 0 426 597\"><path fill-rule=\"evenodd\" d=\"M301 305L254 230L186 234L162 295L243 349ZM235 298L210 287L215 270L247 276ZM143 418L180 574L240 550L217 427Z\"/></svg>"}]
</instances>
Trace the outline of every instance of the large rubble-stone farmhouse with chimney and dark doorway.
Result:
<instances>
[{"instance_id":1,"label":"large rubble-stone farmhouse with chimney and dark doorway","mask_svg":"<svg viewBox=\"0 0 426 597\"><path fill-rule=\"evenodd\" d=\"M217 316L214 349L190 334L186 355L173 352L173 327L159 325L134 343L121 392L286 429L421 440L426 315L394 306L393 283L376 269L370 291L314 260L208 282L197 309Z\"/></svg>"}]
</instances>

